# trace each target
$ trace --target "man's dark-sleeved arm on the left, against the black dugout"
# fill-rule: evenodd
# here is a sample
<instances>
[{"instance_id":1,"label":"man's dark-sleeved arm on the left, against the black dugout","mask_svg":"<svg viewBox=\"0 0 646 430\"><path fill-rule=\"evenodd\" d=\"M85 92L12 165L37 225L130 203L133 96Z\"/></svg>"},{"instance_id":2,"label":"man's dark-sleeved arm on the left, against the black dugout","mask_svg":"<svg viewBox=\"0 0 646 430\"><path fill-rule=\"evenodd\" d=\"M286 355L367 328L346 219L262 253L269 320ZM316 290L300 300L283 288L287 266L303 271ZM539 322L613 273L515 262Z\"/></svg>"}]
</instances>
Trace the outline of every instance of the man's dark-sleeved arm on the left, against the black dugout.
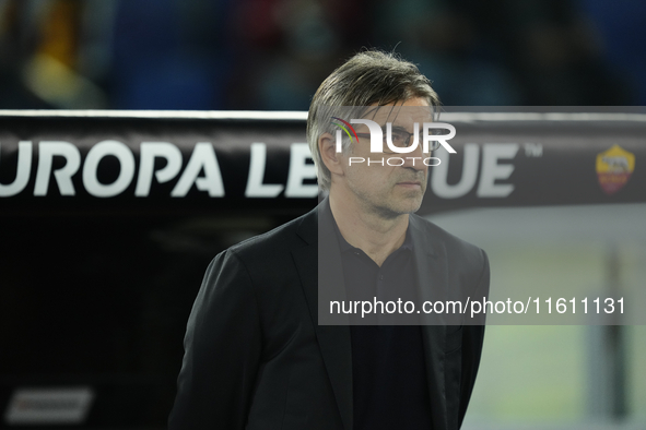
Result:
<instances>
[{"instance_id":1,"label":"man's dark-sleeved arm on the left, against the black dugout","mask_svg":"<svg viewBox=\"0 0 646 430\"><path fill-rule=\"evenodd\" d=\"M220 253L193 303L169 430L244 429L260 360L258 303L245 265Z\"/></svg>"}]
</instances>

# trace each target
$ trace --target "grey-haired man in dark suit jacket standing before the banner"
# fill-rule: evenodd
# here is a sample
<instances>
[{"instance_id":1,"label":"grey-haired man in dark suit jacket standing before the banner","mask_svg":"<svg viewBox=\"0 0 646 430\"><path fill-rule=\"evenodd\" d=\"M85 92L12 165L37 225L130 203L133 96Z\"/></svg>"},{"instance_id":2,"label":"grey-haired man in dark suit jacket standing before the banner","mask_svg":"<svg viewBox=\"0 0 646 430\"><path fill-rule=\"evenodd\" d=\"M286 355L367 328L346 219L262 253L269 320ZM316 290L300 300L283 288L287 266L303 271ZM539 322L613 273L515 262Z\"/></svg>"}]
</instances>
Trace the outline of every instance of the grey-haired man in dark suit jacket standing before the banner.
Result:
<instances>
[{"instance_id":1,"label":"grey-haired man in dark suit jacket standing before the banner","mask_svg":"<svg viewBox=\"0 0 646 430\"><path fill-rule=\"evenodd\" d=\"M329 198L211 262L188 322L171 430L461 425L483 326L354 325L356 315L352 325L319 324L329 289L375 300L398 289L418 299L489 289L483 251L412 215L428 174L414 163L422 145L401 166L351 165L351 156L387 155L369 153L361 126L338 152L330 106L367 107L357 112L379 126L395 121L392 143L406 147L413 121L438 99L413 64L378 51L354 56L321 84L307 134ZM400 279L403 272L411 276ZM353 290L362 276L371 279L359 282L367 290Z\"/></svg>"}]
</instances>

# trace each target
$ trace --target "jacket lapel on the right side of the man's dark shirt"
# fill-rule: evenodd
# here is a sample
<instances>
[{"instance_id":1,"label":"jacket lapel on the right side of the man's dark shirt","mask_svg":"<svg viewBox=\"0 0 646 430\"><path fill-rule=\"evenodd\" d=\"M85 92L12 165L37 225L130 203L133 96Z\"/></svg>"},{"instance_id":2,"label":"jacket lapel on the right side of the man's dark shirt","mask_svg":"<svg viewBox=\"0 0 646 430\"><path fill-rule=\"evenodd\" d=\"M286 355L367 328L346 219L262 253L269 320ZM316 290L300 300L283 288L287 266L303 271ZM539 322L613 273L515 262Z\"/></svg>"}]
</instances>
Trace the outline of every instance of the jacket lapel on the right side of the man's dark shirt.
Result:
<instances>
[{"instance_id":1,"label":"jacket lapel on the right side of the man's dark shirt","mask_svg":"<svg viewBox=\"0 0 646 430\"><path fill-rule=\"evenodd\" d=\"M415 215L410 216L409 228L412 228L413 255L420 285L420 300L435 301L446 297L448 288L448 265L444 243L438 242L424 229L423 222ZM431 414L433 428L446 430L446 385L444 378L444 345L446 325L422 325L424 343L424 360L426 362L426 379L431 398Z\"/></svg>"}]
</instances>

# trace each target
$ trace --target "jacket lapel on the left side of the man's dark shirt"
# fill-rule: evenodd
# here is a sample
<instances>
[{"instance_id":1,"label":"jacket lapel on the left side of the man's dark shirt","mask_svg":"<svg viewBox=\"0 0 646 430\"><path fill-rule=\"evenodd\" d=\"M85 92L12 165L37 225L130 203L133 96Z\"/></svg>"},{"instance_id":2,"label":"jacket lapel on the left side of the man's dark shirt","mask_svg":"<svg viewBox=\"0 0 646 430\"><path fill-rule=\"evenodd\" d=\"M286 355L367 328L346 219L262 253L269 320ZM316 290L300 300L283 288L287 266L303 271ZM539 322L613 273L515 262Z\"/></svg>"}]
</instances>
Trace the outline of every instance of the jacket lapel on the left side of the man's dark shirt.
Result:
<instances>
[{"instance_id":1,"label":"jacket lapel on the left side of the man's dark shirt","mask_svg":"<svg viewBox=\"0 0 646 430\"><path fill-rule=\"evenodd\" d=\"M301 277L309 314L316 331L330 384L337 398L343 427L345 430L352 430L352 349L350 344L350 327L347 324L319 325L318 321L319 306L325 306L326 302L329 303L329 300L326 299L326 294L331 294L331 297L336 297L338 300L340 296L336 294L341 291L341 297L344 298L345 290L341 259L338 252L331 252L333 249L331 247L336 244L336 236L330 235L325 228L319 229L319 225L321 227L327 227L328 225L327 219L320 218L320 216L325 217L324 204L327 204L327 202L324 201L316 210L303 218L298 229L298 236L307 242L307 246L298 250L293 250L292 255ZM319 238L322 240L319 241ZM321 264L325 266L321 267ZM329 292L322 288L319 294L319 282L321 285L332 286L337 291Z\"/></svg>"}]
</instances>

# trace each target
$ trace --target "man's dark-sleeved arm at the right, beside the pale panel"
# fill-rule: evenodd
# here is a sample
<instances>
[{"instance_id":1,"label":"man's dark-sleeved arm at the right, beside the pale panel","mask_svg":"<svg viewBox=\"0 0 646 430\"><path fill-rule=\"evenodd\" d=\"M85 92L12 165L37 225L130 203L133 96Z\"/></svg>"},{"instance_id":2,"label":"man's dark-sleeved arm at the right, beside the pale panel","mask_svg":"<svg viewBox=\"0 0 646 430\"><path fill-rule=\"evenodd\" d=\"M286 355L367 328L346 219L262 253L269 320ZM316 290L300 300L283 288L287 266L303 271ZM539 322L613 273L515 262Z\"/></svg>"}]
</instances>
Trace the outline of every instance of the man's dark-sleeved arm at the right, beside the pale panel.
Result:
<instances>
[{"instance_id":1,"label":"man's dark-sleeved arm at the right, beside the pale panel","mask_svg":"<svg viewBox=\"0 0 646 430\"><path fill-rule=\"evenodd\" d=\"M473 297L489 297L489 259L482 251L483 266ZM484 321L483 321L484 323ZM462 373L460 382L460 411L458 428L462 426L471 392L475 384L475 375L480 366L480 356L484 341L484 325L465 325L462 332Z\"/></svg>"}]
</instances>

